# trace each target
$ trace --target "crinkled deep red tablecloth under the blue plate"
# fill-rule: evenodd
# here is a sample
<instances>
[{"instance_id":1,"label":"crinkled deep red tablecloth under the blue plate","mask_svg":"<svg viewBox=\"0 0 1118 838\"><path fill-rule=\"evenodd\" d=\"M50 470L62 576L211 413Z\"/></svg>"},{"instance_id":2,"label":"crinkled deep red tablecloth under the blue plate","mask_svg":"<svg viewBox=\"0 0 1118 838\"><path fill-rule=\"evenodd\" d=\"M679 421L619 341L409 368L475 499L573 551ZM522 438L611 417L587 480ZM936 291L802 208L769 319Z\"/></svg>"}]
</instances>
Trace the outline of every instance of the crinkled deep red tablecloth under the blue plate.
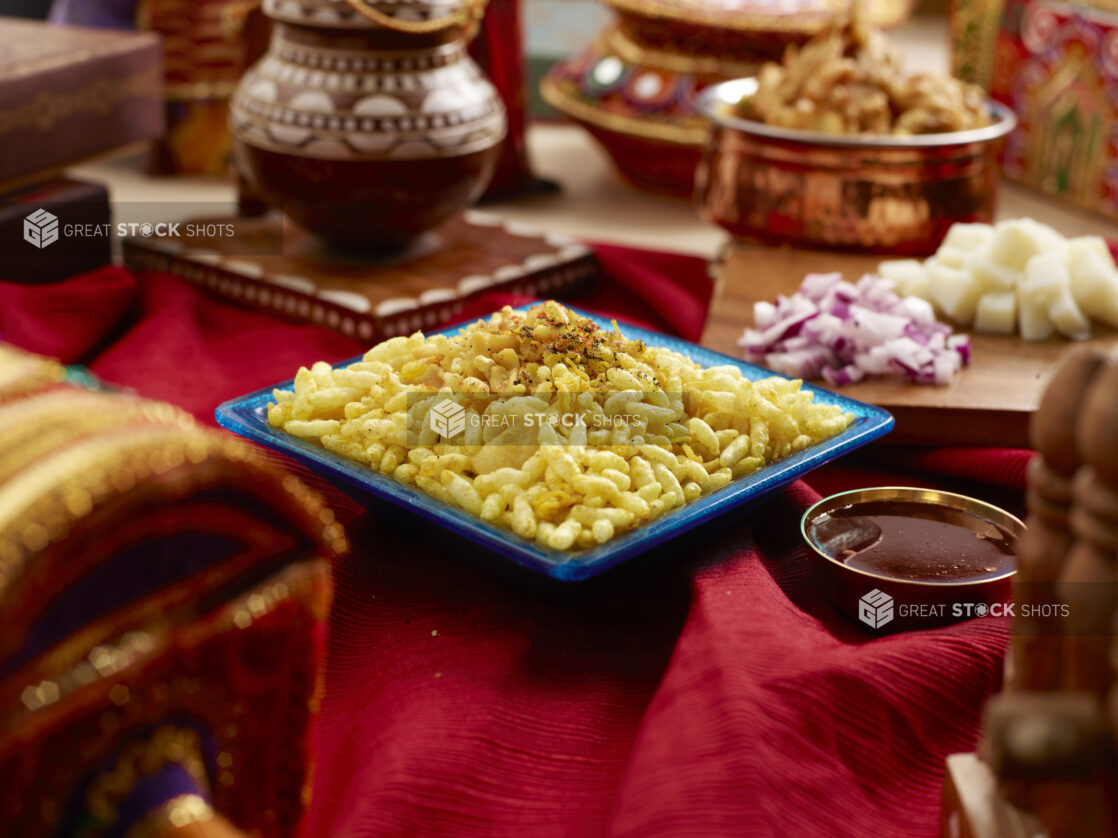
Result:
<instances>
[{"instance_id":1,"label":"crinkled deep red tablecloth under the blue plate","mask_svg":"<svg viewBox=\"0 0 1118 838\"><path fill-rule=\"evenodd\" d=\"M701 261L600 256L609 278L580 304L698 336ZM362 349L120 269L0 283L0 336L206 421ZM1027 458L871 450L572 597L500 581L331 493L357 537L335 570L307 836L935 835L944 758L975 744L1006 627L877 637L845 621L798 518L819 493L882 483L1017 506Z\"/></svg>"}]
</instances>

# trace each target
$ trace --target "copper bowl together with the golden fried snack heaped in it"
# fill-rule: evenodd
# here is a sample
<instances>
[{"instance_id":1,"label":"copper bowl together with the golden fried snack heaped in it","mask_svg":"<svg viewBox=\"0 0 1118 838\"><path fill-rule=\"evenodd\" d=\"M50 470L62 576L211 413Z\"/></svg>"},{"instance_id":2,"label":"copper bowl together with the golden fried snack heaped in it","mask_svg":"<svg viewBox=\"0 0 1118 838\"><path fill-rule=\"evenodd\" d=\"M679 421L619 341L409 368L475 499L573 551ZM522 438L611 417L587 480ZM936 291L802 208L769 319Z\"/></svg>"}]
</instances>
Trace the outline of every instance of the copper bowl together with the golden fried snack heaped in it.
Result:
<instances>
[{"instance_id":1,"label":"copper bowl together with the golden fried snack heaped in it","mask_svg":"<svg viewBox=\"0 0 1118 838\"><path fill-rule=\"evenodd\" d=\"M781 65L707 88L701 215L768 244L925 255L956 221L991 221L1013 113L953 78L904 76L854 19Z\"/></svg>"}]
</instances>

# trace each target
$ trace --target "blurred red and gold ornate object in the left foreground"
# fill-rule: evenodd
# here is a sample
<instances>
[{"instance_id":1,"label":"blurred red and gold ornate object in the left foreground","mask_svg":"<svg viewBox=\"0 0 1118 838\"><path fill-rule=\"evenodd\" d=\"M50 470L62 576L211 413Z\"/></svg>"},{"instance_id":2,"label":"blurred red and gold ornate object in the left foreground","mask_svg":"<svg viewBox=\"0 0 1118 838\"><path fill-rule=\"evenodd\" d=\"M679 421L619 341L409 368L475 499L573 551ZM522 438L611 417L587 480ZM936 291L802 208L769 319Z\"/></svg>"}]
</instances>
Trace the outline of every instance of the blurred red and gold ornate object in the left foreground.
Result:
<instances>
[{"instance_id":1,"label":"blurred red and gold ornate object in the left foreground","mask_svg":"<svg viewBox=\"0 0 1118 838\"><path fill-rule=\"evenodd\" d=\"M256 449L63 377L0 345L3 834L297 835L341 527Z\"/></svg>"}]
</instances>

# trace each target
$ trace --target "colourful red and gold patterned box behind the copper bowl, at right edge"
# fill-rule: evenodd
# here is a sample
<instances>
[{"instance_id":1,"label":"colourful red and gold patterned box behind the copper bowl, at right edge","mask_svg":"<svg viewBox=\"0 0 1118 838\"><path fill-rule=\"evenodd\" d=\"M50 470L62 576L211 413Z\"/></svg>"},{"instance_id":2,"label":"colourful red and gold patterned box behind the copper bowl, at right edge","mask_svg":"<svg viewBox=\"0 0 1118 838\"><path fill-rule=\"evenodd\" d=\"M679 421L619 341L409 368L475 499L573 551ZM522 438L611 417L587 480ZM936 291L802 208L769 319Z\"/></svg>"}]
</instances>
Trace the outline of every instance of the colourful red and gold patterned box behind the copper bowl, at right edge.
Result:
<instances>
[{"instance_id":1,"label":"colourful red and gold patterned box behind the copper bowl, at right edge","mask_svg":"<svg viewBox=\"0 0 1118 838\"><path fill-rule=\"evenodd\" d=\"M953 65L1017 114L1007 177L1118 215L1118 16L1102 7L955 0Z\"/></svg>"}]
</instances>

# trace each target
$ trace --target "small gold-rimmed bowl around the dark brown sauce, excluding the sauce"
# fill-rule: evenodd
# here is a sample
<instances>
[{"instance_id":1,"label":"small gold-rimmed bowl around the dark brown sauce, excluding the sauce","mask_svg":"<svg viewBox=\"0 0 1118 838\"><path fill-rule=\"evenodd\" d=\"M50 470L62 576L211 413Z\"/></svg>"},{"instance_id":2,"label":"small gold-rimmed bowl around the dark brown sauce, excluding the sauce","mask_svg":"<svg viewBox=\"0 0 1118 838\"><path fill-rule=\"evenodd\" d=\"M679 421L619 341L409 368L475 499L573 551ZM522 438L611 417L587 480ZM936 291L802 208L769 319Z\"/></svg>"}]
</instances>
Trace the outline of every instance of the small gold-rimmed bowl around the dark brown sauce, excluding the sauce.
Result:
<instances>
[{"instance_id":1,"label":"small gold-rimmed bowl around the dark brown sauce, excluding the sauce","mask_svg":"<svg viewBox=\"0 0 1118 838\"><path fill-rule=\"evenodd\" d=\"M994 575L951 581L887 575L831 555L812 534L813 524L823 515L862 505L869 510L870 504L883 503L912 504L913 511L922 513L919 517L948 520L968 528L968 522L973 522L976 533L982 523L994 524L1011 536L1015 546L1025 533L1024 523L1005 510L953 492L881 486L825 497L804 513L799 532L819 583L843 615L871 630L885 632L1007 612L1005 603L1012 598L1015 563Z\"/></svg>"}]
</instances>

